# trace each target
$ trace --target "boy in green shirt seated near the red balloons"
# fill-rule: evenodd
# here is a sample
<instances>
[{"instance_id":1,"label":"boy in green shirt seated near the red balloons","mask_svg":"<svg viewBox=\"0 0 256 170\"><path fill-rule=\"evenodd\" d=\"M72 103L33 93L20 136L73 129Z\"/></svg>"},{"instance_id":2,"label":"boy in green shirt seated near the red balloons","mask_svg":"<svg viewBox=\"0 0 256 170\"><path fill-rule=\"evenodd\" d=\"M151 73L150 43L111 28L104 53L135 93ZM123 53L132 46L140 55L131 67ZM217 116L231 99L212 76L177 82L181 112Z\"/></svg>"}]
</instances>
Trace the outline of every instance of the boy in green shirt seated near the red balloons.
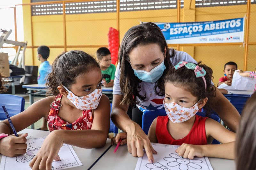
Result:
<instances>
[{"instance_id":1,"label":"boy in green shirt seated near the red balloons","mask_svg":"<svg viewBox=\"0 0 256 170\"><path fill-rule=\"evenodd\" d=\"M111 64L111 56L108 48L100 47L97 50L97 58L103 78L102 85L104 87L113 87L116 66L114 64Z\"/></svg>"}]
</instances>

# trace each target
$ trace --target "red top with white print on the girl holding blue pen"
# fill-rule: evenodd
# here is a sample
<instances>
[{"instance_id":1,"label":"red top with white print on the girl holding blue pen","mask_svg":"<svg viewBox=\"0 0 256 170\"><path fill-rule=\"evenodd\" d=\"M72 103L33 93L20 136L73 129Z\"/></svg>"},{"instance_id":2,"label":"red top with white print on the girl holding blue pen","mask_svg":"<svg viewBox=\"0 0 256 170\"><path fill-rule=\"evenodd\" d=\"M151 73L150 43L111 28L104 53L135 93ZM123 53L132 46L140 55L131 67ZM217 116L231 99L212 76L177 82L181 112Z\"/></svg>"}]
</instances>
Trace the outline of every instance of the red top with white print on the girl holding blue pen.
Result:
<instances>
[{"instance_id":1,"label":"red top with white print on the girl holding blue pen","mask_svg":"<svg viewBox=\"0 0 256 170\"><path fill-rule=\"evenodd\" d=\"M68 130L84 130L92 128L92 110L83 110L83 115L79 117L75 122L69 123L63 120L59 115L60 101L62 95L58 94L51 104L51 110L47 118L48 127L50 131L57 129L68 129Z\"/></svg>"}]
</instances>

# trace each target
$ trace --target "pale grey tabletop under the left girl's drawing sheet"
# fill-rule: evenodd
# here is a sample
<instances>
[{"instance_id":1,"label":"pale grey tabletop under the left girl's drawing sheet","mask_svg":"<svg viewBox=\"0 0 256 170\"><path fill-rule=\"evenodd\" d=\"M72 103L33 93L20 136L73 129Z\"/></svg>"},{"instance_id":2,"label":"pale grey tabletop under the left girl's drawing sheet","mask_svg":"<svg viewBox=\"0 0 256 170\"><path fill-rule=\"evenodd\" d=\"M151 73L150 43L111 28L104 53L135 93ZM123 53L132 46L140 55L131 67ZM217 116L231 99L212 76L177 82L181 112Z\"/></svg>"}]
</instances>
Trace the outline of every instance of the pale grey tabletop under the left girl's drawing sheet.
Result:
<instances>
[{"instance_id":1,"label":"pale grey tabletop under the left girl's drawing sheet","mask_svg":"<svg viewBox=\"0 0 256 170\"><path fill-rule=\"evenodd\" d=\"M34 130L34 129L24 129L19 133L26 133L26 132L28 133L27 138L45 137L50 133L49 131ZM83 166L77 166L69 169L74 169L74 170L88 169L100 157L100 155L104 151L106 151L106 149L109 146L110 146L110 139L107 140L107 143L104 147L98 148L98 149L84 149L84 148L72 146L78 158L82 162ZM2 155L0 155L0 161L1 159L2 159ZM30 169L30 167L28 167L28 169Z\"/></svg>"}]
</instances>

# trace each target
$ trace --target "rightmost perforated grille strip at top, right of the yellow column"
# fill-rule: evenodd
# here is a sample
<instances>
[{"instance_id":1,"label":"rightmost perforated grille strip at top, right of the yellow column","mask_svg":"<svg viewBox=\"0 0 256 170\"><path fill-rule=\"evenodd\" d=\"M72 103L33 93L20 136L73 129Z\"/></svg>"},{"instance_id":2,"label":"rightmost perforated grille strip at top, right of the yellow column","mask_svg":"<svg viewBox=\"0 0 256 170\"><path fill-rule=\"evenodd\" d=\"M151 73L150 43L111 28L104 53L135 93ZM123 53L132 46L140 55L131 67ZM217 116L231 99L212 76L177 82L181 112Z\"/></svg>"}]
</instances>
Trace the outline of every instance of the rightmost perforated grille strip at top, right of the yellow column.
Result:
<instances>
[{"instance_id":1,"label":"rightmost perforated grille strip at top, right of the yellow column","mask_svg":"<svg viewBox=\"0 0 256 170\"><path fill-rule=\"evenodd\" d=\"M244 5L246 3L246 0L196 0L196 8L210 6ZM256 4L256 0L251 0L251 4Z\"/></svg>"}]
</instances>

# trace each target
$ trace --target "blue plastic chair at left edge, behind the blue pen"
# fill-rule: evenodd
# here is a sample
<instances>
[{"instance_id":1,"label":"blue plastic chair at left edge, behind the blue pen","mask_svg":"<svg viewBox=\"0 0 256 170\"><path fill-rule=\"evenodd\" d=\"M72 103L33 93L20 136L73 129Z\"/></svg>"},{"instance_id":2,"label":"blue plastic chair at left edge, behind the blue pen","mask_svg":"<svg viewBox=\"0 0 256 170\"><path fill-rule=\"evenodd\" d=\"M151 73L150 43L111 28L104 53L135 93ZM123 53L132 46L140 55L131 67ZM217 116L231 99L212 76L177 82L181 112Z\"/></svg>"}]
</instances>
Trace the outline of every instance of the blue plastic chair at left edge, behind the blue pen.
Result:
<instances>
[{"instance_id":1,"label":"blue plastic chair at left edge, behind the blue pen","mask_svg":"<svg viewBox=\"0 0 256 170\"><path fill-rule=\"evenodd\" d=\"M3 105L8 111L10 117L12 117L25 110L25 99L12 94L0 94L0 120L6 119L6 115L2 108Z\"/></svg>"}]
</instances>

